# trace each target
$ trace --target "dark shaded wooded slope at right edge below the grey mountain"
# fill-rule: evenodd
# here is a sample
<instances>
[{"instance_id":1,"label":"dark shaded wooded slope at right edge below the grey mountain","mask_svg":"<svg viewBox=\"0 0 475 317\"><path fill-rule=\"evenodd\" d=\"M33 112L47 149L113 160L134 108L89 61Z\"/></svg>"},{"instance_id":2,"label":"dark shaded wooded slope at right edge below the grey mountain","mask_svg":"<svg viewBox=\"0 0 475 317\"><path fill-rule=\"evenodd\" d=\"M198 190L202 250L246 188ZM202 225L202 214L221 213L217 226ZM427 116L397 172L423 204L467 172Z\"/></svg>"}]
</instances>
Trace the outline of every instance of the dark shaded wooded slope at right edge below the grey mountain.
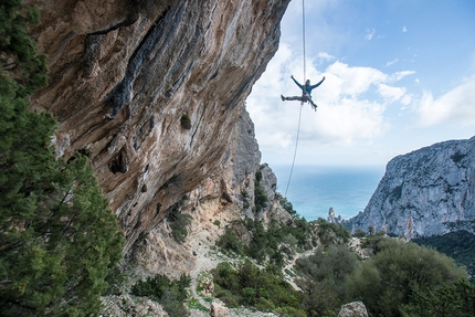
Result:
<instances>
[{"instance_id":1,"label":"dark shaded wooded slope at right edge below the grey mountain","mask_svg":"<svg viewBox=\"0 0 475 317\"><path fill-rule=\"evenodd\" d=\"M434 247L460 265L465 265L471 276L475 276L475 234L461 230L444 235L425 236L412 240L419 245Z\"/></svg>"}]
</instances>

